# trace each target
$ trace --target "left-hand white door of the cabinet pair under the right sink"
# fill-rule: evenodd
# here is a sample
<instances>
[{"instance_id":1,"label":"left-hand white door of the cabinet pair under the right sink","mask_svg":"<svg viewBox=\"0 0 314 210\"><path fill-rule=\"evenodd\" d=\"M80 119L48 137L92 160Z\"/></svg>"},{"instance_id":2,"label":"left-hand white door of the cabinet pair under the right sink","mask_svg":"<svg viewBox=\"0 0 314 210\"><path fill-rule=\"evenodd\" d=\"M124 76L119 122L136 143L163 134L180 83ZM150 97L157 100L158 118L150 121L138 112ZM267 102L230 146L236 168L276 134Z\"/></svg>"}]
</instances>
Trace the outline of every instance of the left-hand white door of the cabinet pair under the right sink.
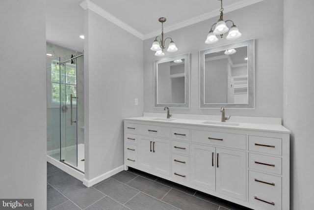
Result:
<instances>
[{"instance_id":1,"label":"left-hand white door of the cabinet pair under the right sink","mask_svg":"<svg viewBox=\"0 0 314 210\"><path fill-rule=\"evenodd\" d=\"M215 148L191 144L191 183L215 190Z\"/></svg>"}]
</instances>

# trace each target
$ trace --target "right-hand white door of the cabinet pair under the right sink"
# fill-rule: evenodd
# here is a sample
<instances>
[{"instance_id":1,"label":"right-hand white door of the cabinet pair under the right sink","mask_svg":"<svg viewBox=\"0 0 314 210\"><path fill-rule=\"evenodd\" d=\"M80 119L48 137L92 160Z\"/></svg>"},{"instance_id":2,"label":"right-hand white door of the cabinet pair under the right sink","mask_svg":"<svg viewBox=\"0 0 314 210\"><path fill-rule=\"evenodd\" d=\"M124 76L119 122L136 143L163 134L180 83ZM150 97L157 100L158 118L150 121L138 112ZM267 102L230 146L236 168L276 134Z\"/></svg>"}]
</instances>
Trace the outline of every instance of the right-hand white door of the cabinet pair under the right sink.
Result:
<instances>
[{"instance_id":1,"label":"right-hand white door of the cabinet pair under the right sink","mask_svg":"<svg viewBox=\"0 0 314 210\"><path fill-rule=\"evenodd\" d=\"M216 148L216 191L246 200L246 153Z\"/></svg>"}]
</instances>

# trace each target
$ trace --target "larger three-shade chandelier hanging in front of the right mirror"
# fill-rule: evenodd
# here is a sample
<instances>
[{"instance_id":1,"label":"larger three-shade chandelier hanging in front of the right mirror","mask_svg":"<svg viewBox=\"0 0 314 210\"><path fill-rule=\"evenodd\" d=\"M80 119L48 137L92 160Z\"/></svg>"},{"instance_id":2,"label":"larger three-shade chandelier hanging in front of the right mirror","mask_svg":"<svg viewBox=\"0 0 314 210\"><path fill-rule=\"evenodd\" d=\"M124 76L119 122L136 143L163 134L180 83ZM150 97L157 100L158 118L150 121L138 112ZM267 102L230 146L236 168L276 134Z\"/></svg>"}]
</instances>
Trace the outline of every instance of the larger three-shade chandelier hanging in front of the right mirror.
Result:
<instances>
[{"instance_id":1,"label":"larger three-shade chandelier hanging in front of the right mirror","mask_svg":"<svg viewBox=\"0 0 314 210\"><path fill-rule=\"evenodd\" d=\"M220 37L222 38L223 37L223 34L226 33L227 31L229 31L226 39L228 40L233 40L233 39L237 39L239 38L242 33L239 32L239 30L237 29L237 27L235 26L234 22L232 20L227 20L227 21L224 21L223 20L223 11L224 11L224 8L222 7L222 0L220 0L220 5L221 5L221 8L220 8L220 18L218 20L217 23L214 23L210 30L209 30L209 33L207 35L207 39L205 41L206 44L213 44L213 43L216 43L218 41L218 38L216 37L216 35L220 35ZM229 28L227 27L226 23L227 22L231 22L232 23L232 26L229 30ZM212 30L212 27L215 26L215 30Z\"/></svg>"}]
</instances>

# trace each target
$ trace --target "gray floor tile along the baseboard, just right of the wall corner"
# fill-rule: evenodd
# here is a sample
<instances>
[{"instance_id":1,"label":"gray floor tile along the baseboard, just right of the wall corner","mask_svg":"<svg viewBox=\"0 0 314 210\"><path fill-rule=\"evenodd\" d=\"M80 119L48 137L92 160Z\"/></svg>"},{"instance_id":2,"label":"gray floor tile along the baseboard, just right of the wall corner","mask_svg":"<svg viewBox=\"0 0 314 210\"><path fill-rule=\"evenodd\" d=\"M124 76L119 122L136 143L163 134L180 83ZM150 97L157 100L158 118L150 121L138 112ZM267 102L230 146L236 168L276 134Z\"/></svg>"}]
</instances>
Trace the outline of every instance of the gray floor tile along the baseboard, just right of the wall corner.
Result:
<instances>
[{"instance_id":1,"label":"gray floor tile along the baseboard, just right of the wall corner","mask_svg":"<svg viewBox=\"0 0 314 210\"><path fill-rule=\"evenodd\" d=\"M114 179L106 179L100 184L94 186L95 189L105 193L110 198L124 204L129 201L139 191L132 187L125 185Z\"/></svg>"}]
</instances>

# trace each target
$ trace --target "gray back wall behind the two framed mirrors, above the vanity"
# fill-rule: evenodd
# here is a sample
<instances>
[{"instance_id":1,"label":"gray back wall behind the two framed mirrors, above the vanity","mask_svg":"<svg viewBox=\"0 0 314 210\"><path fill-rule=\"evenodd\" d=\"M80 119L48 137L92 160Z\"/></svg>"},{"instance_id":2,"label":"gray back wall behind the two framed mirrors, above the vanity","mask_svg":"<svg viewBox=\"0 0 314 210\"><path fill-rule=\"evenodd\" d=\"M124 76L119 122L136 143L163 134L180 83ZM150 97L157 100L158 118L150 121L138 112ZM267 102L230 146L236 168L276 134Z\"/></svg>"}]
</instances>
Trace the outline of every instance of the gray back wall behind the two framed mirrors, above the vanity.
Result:
<instances>
[{"instance_id":1,"label":"gray back wall behind the two framed mirrors, above the vanity","mask_svg":"<svg viewBox=\"0 0 314 210\"><path fill-rule=\"evenodd\" d=\"M165 52L165 56L191 53L190 70L190 109L171 109L172 113L219 115L218 109L199 109L199 51L255 38L255 109L227 110L228 115L283 117L283 0L264 0L259 3L224 14L231 19L242 32L242 36L233 41L219 39L215 44L205 44L210 26L217 17L187 26L171 32L164 31L165 37L171 37L179 50L176 53ZM265 15L267 14L267 15ZM167 22L164 25L167 26ZM271 31L271 32L269 32ZM161 33L161 29L160 29ZM156 34L158 35L158 34ZM154 37L144 41L144 112L164 111L154 109L153 60L158 57L150 50ZM168 44L168 42L166 42ZM267 84L267 86L265 86Z\"/></svg>"}]
</instances>

